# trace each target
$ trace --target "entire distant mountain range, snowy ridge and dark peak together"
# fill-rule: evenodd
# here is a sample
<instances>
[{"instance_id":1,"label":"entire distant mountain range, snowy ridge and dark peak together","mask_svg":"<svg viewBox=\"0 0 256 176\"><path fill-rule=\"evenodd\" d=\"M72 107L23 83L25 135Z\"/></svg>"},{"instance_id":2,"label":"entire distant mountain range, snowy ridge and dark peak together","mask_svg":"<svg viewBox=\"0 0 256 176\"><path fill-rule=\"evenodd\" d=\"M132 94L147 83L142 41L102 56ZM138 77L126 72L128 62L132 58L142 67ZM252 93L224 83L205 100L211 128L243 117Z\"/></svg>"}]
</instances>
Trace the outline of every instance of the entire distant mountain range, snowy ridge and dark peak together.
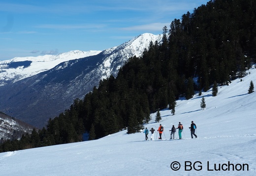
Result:
<instances>
[{"instance_id":1,"label":"entire distant mountain range, snowy ridge and dark peak together","mask_svg":"<svg viewBox=\"0 0 256 176\"><path fill-rule=\"evenodd\" d=\"M116 76L129 57L141 56L151 41L160 42L161 35L141 34L101 52L75 50L0 61L0 111L45 126L101 79Z\"/></svg>"}]
</instances>

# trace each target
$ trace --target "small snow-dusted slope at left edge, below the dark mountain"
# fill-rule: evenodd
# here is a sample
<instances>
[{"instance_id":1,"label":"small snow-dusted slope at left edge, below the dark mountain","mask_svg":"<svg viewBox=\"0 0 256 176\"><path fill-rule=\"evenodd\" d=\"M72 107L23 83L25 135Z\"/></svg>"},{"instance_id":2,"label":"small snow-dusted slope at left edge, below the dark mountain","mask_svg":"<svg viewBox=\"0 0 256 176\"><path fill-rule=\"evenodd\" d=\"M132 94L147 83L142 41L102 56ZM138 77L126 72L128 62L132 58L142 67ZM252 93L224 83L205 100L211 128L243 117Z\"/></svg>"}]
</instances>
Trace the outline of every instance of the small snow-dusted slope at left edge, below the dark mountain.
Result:
<instances>
[{"instance_id":1,"label":"small snow-dusted slope at left edge, below the dark mountain","mask_svg":"<svg viewBox=\"0 0 256 176\"><path fill-rule=\"evenodd\" d=\"M6 139L20 139L22 134L31 133L30 126L0 112L0 142Z\"/></svg>"}]
</instances>

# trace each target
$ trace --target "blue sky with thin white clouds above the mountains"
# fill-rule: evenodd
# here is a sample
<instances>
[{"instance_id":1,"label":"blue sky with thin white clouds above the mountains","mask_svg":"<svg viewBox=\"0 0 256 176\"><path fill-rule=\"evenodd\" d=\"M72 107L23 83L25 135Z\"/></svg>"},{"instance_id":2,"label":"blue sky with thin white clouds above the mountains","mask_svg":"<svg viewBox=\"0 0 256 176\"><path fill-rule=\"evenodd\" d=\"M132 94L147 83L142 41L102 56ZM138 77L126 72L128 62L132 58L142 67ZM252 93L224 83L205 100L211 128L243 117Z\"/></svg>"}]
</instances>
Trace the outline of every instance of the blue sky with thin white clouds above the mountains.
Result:
<instances>
[{"instance_id":1,"label":"blue sky with thin white clouds above the mountains","mask_svg":"<svg viewBox=\"0 0 256 176\"><path fill-rule=\"evenodd\" d=\"M105 50L162 27L209 0L1 0L0 60Z\"/></svg>"}]
</instances>

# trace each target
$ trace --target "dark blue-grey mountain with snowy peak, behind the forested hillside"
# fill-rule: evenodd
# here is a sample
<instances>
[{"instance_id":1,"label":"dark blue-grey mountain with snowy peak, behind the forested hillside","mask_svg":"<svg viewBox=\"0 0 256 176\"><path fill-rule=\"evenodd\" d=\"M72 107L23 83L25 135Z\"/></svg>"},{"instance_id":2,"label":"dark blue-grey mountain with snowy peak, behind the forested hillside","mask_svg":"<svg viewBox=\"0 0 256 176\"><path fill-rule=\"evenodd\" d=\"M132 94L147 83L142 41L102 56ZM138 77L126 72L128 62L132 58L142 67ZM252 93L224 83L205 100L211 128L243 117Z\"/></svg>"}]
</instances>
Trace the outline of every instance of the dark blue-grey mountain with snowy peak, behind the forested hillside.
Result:
<instances>
[{"instance_id":1,"label":"dark blue-grey mountain with snowy peak, behind the forested hillside","mask_svg":"<svg viewBox=\"0 0 256 176\"><path fill-rule=\"evenodd\" d=\"M161 35L145 33L96 55L66 58L50 70L0 86L0 110L33 126L45 126L49 118L69 108L76 98L83 98L101 79L117 75L129 57L141 56L156 40L160 41Z\"/></svg>"}]
</instances>

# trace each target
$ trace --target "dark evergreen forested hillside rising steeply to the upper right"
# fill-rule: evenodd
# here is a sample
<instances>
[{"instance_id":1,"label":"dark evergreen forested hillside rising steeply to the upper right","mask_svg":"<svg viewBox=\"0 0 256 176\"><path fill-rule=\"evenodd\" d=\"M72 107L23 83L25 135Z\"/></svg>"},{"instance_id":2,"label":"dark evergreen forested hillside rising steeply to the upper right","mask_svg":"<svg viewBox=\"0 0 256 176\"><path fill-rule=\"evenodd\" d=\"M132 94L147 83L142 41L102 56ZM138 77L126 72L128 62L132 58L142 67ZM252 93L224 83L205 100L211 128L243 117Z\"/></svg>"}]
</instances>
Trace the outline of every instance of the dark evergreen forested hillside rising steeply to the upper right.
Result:
<instances>
[{"instance_id":1,"label":"dark evergreen forested hillside rising steeply to the upper right","mask_svg":"<svg viewBox=\"0 0 256 176\"><path fill-rule=\"evenodd\" d=\"M130 58L117 77L100 81L46 128L8 145L17 150L25 140L27 147L77 142L84 132L96 139L126 127L136 132L150 113L168 105L174 110L181 96L190 99L215 81L243 77L255 58L256 1L211 0L164 26L161 43L151 42L141 58Z\"/></svg>"}]
</instances>

